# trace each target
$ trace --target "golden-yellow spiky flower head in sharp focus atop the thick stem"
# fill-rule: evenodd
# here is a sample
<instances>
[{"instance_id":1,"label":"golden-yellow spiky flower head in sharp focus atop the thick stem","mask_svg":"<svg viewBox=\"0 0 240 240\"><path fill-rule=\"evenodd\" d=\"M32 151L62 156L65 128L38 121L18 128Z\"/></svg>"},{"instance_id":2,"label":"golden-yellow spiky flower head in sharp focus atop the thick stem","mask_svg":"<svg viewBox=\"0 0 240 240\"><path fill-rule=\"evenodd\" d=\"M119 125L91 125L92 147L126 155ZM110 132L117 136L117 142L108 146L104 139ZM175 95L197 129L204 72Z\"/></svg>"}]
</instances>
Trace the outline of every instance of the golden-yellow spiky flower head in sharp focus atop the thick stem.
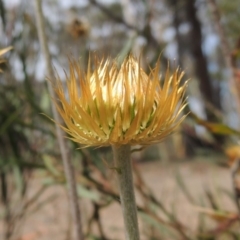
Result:
<instances>
[{"instance_id":1,"label":"golden-yellow spiky flower head in sharp focus atop the thick stem","mask_svg":"<svg viewBox=\"0 0 240 240\"><path fill-rule=\"evenodd\" d=\"M158 61L150 74L132 56L120 67L109 59L83 73L70 61L67 93L58 79L57 109L66 123L62 128L85 146L148 145L160 142L182 122L186 84L183 72L167 71L160 85Z\"/></svg>"}]
</instances>

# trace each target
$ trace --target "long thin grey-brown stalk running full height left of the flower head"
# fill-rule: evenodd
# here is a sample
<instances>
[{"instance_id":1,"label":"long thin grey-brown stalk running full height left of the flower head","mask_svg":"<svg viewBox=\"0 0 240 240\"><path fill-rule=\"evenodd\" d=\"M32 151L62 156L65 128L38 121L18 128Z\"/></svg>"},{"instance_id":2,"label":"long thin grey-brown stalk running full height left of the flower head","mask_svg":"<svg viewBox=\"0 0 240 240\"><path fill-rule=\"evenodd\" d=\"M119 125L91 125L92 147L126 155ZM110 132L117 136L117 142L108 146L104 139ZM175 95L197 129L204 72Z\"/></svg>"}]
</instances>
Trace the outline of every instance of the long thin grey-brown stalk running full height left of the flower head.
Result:
<instances>
[{"instance_id":1,"label":"long thin grey-brown stalk running full height left of the flower head","mask_svg":"<svg viewBox=\"0 0 240 240\"><path fill-rule=\"evenodd\" d=\"M47 73L50 79L54 79L54 71L51 65L51 57L47 45L47 38L44 31L44 20L43 20L43 13L42 13L42 7L41 7L41 0L35 1L35 13L36 13L36 20L37 20L37 29L38 29L38 35L39 35L39 41L41 45L42 52L45 57L46 65L47 65ZM48 91L51 96L55 96L55 92L53 90L53 87L49 81L47 81ZM53 112L53 118L54 121L57 123L61 122L60 116L52 103L52 112ZM64 134L61 130L61 128L56 124L56 134L57 134L57 140L60 147L60 153L63 161L65 176L67 179L68 184L68 190L69 190L69 200L70 200L70 208L71 208L71 214L73 218L73 228L74 228L74 239L75 240L82 240L83 232L82 232L82 224L81 224L81 215L80 215L80 209L78 205L78 196L77 196L77 190L76 190L76 180L74 176L74 170L72 163L69 158L68 154L68 148L66 145L66 142L64 140Z\"/></svg>"}]
</instances>

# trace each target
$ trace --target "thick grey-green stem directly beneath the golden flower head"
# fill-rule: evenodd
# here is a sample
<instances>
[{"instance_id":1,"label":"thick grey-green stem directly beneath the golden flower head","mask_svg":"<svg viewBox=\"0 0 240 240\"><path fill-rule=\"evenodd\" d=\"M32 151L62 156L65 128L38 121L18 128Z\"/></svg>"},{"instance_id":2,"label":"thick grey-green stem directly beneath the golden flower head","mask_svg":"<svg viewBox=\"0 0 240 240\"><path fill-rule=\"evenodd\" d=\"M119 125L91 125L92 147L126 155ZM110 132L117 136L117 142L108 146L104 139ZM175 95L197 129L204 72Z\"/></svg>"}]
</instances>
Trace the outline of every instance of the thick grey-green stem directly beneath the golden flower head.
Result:
<instances>
[{"instance_id":1,"label":"thick grey-green stem directly beneath the golden flower head","mask_svg":"<svg viewBox=\"0 0 240 240\"><path fill-rule=\"evenodd\" d=\"M139 240L130 145L112 146L117 170L126 240Z\"/></svg>"}]
</instances>

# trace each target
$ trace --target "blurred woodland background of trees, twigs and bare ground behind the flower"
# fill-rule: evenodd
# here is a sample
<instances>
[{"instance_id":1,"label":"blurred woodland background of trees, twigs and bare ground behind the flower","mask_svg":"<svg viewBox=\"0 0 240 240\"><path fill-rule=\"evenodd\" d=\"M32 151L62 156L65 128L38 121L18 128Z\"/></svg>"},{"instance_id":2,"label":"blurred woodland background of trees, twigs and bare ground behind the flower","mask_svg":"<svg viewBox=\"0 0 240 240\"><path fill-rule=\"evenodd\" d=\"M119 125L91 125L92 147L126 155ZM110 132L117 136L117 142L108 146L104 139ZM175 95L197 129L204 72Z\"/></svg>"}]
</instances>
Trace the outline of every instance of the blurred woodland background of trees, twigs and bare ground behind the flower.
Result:
<instances>
[{"instance_id":1,"label":"blurred woodland background of trees, twigs and bare ground behind the flower","mask_svg":"<svg viewBox=\"0 0 240 240\"><path fill-rule=\"evenodd\" d=\"M92 54L160 56L185 71L188 117L161 144L133 153L141 239L240 239L240 2L42 0L52 65ZM72 239L66 180L46 86L34 1L0 0L0 239ZM109 148L78 149L86 239L124 239Z\"/></svg>"}]
</instances>

